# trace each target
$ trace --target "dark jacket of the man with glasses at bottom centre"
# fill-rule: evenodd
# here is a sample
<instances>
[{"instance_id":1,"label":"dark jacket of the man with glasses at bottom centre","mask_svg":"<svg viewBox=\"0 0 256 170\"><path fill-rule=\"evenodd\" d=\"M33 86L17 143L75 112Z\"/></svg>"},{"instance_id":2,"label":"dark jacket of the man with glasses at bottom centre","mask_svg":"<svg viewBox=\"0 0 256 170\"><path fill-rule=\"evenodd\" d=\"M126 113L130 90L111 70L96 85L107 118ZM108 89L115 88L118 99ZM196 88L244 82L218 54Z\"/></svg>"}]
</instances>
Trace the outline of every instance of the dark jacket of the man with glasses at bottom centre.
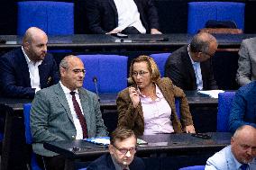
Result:
<instances>
[{"instance_id":1,"label":"dark jacket of the man with glasses at bottom centre","mask_svg":"<svg viewBox=\"0 0 256 170\"><path fill-rule=\"evenodd\" d=\"M134 157L129 168L130 170L144 170L145 165L141 158ZM115 170L115 167L110 154L105 154L87 166L87 170Z\"/></svg>"}]
</instances>

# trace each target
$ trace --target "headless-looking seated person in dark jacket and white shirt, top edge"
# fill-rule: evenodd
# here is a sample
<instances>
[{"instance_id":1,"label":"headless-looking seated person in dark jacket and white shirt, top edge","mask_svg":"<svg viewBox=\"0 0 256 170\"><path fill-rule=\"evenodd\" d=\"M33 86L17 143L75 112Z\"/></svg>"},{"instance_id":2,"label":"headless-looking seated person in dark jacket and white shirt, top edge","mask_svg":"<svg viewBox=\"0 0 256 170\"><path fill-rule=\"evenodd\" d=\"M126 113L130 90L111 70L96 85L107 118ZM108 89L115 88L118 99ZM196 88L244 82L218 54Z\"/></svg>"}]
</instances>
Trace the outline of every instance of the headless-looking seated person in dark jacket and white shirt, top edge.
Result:
<instances>
[{"instance_id":1,"label":"headless-looking seated person in dark jacket and white shirt, top edge","mask_svg":"<svg viewBox=\"0 0 256 170\"><path fill-rule=\"evenodd\" d=\"M87 21L92 33L161 33L152 0L88 0Z\"/></svg>"}]
</instances>

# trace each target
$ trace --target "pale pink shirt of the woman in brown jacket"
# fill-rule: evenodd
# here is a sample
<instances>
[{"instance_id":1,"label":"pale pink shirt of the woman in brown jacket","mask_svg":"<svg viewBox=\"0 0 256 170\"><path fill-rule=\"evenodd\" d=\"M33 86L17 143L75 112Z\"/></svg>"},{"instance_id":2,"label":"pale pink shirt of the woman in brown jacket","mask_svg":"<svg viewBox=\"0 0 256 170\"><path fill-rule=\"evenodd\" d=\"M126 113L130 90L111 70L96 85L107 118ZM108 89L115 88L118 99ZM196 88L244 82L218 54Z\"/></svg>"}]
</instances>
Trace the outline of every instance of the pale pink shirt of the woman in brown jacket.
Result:
<instances>
[{"instance_id":1,"label":"pale pink shirt of the woman in brown jacket","mask_svg":"<svg viewBox=\"0 0 256 170\"><path fill-rule=\"evenodd\" d=\"M157 99L153 101L151 97L140 94L145 123L143 135L174 132L170 121L171 108L158 85L156 85L156 95Z\"/></svg>"}]
</instances>

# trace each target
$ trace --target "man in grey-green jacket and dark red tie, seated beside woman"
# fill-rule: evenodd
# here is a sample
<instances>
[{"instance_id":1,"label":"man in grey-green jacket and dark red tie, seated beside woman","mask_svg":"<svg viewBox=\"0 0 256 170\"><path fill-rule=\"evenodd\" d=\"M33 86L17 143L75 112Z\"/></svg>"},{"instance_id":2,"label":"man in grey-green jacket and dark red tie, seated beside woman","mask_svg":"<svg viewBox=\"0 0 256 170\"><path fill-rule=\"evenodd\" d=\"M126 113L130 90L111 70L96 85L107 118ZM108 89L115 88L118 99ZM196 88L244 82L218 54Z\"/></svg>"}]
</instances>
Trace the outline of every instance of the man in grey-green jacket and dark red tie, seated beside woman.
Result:
<instances>
[{"instance_id":1,"label":"man in grey-green jacket and dark red tie, seated beside woman","mask_svg":"<svg viewBox=\"0 0 256 170\"><path fill-rule=\"evenodd\" d=\"M64 169L65 157L43 148L44 142L107 136L96 94L82 87L85 67L68 56L59 64L60 81L35 94L31 109L32 148L41 167ZM42 158L41 158L42 156Z\"/></svg>"}]
</instances>

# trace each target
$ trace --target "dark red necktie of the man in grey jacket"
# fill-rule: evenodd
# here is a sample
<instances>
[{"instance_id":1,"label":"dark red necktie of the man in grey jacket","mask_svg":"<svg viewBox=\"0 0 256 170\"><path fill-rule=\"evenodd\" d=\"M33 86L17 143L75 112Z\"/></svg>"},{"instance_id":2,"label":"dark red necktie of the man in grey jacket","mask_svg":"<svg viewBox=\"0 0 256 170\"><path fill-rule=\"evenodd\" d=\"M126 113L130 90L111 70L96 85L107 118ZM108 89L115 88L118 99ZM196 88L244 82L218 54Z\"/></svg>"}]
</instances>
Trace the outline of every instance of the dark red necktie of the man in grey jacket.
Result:
<instances>
[{"instance_id":1,"label":"dark red necktie of the man in grey jacket","mask_svg":"<svg viewBox=\"0 0 256 170\"><path fill-rule=\"evenodd\" d=\"M87 138L87 121L84 117L84 115L82 114L82 111L79 107L78 101L76 99L76 93L75 92L70 92L70 94L72 95L72 102L75 108L75 112L78 115L78 120L81 124L82 130L83 130L83 138L86 139Z\"/></svg>"}]
</instances>

